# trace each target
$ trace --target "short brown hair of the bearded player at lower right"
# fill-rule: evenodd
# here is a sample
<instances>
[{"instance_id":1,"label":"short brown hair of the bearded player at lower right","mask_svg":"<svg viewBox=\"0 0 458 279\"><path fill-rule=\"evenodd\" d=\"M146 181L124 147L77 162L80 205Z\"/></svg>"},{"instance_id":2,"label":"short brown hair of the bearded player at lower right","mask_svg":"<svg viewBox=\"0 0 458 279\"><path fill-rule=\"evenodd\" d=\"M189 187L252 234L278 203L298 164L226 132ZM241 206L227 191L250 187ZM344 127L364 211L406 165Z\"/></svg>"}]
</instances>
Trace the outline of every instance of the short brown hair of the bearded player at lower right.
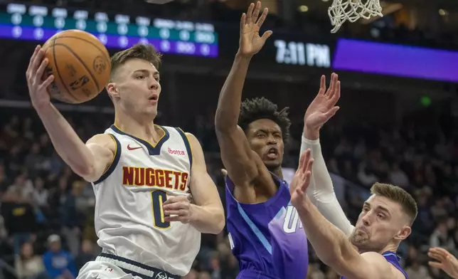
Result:
<instances>
[{"instance_id":1,"label":"short brown hair of the bearded player at lower right","mask_svg":"<svg viewBox=\"0 0 458 279\"><path fill-rule=\"evenodd\" d=\"M392 184L384 184L376 182L371 187L371 194L376 196L384 196L391 201L394 201L403 208L404 213L408 216L410 225L415 221L418 214L417 203L407 191L399 186Z\"/></svg>"}]
</instances>

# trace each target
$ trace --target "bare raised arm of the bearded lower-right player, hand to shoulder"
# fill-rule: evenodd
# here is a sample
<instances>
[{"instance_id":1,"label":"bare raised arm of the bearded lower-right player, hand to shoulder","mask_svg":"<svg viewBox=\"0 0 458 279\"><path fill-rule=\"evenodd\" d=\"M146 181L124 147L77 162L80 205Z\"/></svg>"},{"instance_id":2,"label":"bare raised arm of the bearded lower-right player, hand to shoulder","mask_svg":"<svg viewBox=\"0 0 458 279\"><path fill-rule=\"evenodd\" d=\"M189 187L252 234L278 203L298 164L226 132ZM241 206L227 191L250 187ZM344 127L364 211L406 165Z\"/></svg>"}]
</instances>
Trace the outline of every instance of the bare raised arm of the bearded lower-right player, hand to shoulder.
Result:
<instances>
[{"instance_id":1,"label":"bare raised arm of the bearded lower-right player, hand to shoulder","mask_svg":"<svg viewBox=\"0 0 458 279\"><path fill-rule=\"evenodd\" d=\"M326 265L348 279L400 279L402 273L395 270L379 253L359 254L339 228L332 225L311 204L306 191L310 183L313 159L307 149L294 179L289 186L291 202L297 209L299 218L313 246L316 256ZM402 275L402 276L401 276Z\"/></svg>"}]
</instances>

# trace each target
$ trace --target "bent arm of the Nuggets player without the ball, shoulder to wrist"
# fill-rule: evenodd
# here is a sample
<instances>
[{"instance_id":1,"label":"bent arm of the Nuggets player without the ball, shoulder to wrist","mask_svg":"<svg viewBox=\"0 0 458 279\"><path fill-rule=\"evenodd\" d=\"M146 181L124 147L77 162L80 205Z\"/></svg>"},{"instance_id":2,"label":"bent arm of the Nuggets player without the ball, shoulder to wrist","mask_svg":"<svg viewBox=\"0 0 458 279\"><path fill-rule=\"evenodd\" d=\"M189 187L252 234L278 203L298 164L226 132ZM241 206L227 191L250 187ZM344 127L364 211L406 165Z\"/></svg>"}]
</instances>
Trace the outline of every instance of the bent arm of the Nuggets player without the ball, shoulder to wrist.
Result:
<instances>
[{"instance_id":1,"label":"bent arm of the Nuggets player without the ball, shoulder to wrist","mask_svg":"<svg viewBox=\"0 0 458 279\"><path fill-rule=\"evenodd\" d=\"M198 139L186 133L193 151L189 189L195 205L191 209L191 225L201 233L218 234L223 231L225 216L218 189L208 175L203 150Z\"/></svg>"}]
</instances>

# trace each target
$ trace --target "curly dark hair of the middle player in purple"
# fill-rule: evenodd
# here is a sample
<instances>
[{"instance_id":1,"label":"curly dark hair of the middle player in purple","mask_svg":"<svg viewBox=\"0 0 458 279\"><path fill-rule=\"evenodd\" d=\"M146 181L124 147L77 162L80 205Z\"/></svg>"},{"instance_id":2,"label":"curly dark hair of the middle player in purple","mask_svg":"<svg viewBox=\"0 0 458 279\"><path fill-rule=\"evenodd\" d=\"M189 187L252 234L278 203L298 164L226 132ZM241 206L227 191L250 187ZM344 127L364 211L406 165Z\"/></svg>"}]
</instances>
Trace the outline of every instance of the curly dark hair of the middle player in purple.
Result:
<instances>
[{"instance_id":1,"label":"curly dark hair of the middle player in purple","mask_svg":"<svg viewBox=\"0 0 458 279\"><path fill-rule=\"evenodd\" d=\"M251 122L270 119L279 125L282 130L283 141L287 142L289 126L291 126L291 120L288 118L289 107L284 107L279 111L277 109L277 105L264 97L244 100L238 117L238 125L246 132Z\"/></svg>"}]
</instances>

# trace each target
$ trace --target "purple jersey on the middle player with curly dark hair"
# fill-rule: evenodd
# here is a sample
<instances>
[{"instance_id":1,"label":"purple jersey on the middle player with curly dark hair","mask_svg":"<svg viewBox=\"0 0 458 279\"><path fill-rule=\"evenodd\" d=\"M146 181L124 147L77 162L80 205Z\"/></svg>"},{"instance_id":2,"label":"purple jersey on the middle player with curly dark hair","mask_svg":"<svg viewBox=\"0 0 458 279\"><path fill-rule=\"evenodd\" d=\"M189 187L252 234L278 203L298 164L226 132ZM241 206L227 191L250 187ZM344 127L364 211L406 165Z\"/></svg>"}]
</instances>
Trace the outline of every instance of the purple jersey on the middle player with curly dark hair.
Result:
<instances>
[{"instance_id":1,"label":"purple jersey on the middle player with curly dark hair","mask_svg":"<svg viewBox=\"0 0 458 279\"><path fill-rule=\"evenodd\" d=\"M237 278L305 279L309 265L307 237L290 203L286 181L272 174L278 191L264 203L241 204L226 178L230 248L238 259Z\"/></svg>"}]
</instances>

